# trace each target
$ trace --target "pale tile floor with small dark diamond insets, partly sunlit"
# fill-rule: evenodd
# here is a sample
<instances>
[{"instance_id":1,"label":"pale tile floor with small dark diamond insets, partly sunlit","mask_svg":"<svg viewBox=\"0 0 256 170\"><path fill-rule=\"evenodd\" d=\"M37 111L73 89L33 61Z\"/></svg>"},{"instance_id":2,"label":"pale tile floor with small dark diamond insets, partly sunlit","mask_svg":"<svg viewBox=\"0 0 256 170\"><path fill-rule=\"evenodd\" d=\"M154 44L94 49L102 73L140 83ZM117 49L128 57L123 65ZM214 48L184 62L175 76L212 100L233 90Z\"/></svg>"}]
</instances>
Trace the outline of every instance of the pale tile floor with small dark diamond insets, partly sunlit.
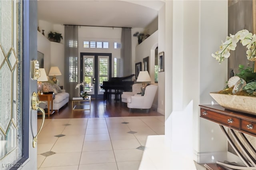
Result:
<instances>
[{"instance_id":1,"label":"pale tile floor with small dark diamond insets, partly sunlit","mask_svg":"<svg viewBox=\"0 0 256 170\"><path fill-rule=\"evenodd\" d=\"M181 165L163 141L164 116L46 119L38 170L205 169L184 156Z\"/></svg>"}]
</instances>

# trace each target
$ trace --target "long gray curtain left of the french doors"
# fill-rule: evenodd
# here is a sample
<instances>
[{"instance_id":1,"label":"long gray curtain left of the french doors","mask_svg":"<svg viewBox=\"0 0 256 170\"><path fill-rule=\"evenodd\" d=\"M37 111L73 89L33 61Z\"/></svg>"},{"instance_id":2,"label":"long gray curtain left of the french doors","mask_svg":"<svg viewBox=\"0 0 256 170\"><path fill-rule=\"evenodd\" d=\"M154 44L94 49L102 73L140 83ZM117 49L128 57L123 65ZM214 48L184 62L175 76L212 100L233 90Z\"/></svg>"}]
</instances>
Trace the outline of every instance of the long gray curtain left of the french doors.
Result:
<instances>
[{"instance_id":1,"label":"long gray curtain left of the french doors","mask_svg":"<svg viewBox=\"0 0 256 170\"><path fill-rule=\"evenodd\" d=\"M79 82L80 83L80 82ZM65 90L78 97L78 26L65 26Z\"/></svg>"}]
</instances>

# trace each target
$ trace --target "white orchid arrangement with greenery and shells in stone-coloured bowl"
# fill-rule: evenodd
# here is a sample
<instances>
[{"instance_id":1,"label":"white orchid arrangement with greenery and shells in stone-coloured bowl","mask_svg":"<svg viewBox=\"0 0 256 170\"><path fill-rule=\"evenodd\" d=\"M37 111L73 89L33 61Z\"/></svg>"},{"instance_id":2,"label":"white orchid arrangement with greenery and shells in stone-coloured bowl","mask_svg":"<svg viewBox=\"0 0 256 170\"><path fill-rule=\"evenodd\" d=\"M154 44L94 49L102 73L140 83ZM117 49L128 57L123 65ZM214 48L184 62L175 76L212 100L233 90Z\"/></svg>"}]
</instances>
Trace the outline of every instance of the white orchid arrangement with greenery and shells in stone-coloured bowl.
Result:
<instances>
[{"instance_id":1,"label":"white orchid arrangement with greenery and shells in stone-coloured bowl","mask_svg":"<svg viewBox=\"0 0 256 170\"><path fill-rule=\"evenodd\" d=\"M212 57L222 63L230 56L230 50L236 49L238 41L246 46L247 59L256 61L256 35L248 30L240 30L235 35L227 36L226 41L222 42L220 49L212 54ZM256 115L256 73L254 69L244 69L242 65L239 65L239 71L240 73L228 80L226 88L210 95L226 109Z\"/></svg>"}]
</instances>

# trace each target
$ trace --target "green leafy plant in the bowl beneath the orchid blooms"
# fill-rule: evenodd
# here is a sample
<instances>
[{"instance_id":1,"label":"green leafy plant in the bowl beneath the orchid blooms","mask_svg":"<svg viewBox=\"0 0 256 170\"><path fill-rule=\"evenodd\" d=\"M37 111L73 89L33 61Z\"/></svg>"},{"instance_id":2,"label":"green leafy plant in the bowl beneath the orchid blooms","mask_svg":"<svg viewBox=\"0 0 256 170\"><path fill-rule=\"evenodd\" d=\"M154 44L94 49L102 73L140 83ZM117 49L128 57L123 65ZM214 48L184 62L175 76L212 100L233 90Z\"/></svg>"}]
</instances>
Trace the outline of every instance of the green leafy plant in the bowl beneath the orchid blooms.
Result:
<instances>
[{"instance_id":1,"label":"green leafy plant in the bowl beneath the orchid blooms","mask_svg":"<svg viewBox=\"0 0 256 170\"><path fill-rule=\"evenodd\" d=\"M240 73L237 73L236 75L240 77L241 79L244 79L246 83L249 83L251 81L256 80L256 73L252 69L252 67L244 68L244 65L238 65Z\"/></svg>"}]
</instances>

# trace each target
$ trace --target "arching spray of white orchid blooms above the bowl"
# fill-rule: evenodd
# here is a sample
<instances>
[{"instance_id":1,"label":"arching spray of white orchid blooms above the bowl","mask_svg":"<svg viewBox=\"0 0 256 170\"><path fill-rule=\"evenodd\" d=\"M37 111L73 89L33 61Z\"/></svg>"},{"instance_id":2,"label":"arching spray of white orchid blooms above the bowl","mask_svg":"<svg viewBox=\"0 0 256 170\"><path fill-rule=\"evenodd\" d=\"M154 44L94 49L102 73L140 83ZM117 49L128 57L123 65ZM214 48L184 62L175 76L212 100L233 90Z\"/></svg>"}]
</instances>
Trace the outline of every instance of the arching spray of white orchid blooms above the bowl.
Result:
<instances>
[{"instance_id":1,"label":"arching spray of white orchid blooms above the bowl","mask_svg":"<svg viewBox=\"0 0 256 170\"><path fill-rule=\"evenodd\" d=\"M230 36L227 36L226 41L221 43L219 51L212 54L212 57L222 63L224 58L230 56L230 50L234 51L236 49L236 44L239 40L248 49L246 51L247 59L256 61L256 35L252 35L248 30L240 30L235 35L230 34Z\"/></svg>"}]
</instances>

